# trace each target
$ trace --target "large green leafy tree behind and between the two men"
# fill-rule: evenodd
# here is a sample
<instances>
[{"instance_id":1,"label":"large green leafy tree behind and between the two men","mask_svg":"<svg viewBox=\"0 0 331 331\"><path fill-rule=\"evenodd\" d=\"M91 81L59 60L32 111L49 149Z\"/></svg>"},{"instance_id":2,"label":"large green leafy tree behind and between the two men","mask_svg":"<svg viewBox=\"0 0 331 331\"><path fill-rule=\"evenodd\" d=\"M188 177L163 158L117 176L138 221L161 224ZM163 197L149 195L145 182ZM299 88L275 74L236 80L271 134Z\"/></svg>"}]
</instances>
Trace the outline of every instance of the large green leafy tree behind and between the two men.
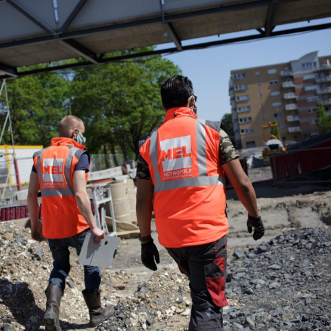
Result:
<instances>
[{"instance_id":1,"label":"large green leafy tree behind and between the two men","mask_svg":"<svg viewBox=\"0 0 331 331\"><path fill-rule=\"evenodd\" d=\"M161 57L77 70L71 86L72 113L86 123L89 150L121 150L125 159L137 159L139 138L156 128L165 114L161 83L180 72Z\"/></svg>"}]
</instances>

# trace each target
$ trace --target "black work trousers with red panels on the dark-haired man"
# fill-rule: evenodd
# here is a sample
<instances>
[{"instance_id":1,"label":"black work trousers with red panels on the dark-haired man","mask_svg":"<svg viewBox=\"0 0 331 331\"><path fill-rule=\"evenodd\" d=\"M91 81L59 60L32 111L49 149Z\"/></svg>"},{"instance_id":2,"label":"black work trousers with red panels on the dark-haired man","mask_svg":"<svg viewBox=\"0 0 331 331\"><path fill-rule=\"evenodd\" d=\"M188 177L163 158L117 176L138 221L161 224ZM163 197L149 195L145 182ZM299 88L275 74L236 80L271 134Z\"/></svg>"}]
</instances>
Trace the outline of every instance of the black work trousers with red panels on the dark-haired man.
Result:
<instances>
[{"instance_id":1,"label":"black work trousers with red panels on the dark-haired man","mask_svg":"<svg viewBox=\"0 0 331 331\"><path fill-rule=\"evenodd\" d=\"M190 279L192 310L189 331L223 329L227 236L204 245L167 248L179 269Z\"/></svg>"}]
</instances>

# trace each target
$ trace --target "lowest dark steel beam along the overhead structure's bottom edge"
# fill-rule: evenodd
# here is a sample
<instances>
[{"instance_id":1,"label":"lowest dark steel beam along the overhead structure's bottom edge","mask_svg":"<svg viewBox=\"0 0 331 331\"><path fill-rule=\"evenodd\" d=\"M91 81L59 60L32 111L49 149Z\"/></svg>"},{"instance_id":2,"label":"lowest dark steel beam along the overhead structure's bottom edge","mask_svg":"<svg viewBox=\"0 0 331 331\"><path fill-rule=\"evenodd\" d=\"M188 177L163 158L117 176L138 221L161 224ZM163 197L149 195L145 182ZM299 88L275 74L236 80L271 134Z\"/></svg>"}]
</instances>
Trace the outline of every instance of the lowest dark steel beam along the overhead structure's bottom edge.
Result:
<instances>
[{"instance_id":1,"label":"lowest dark steel beam along the overhead structure's bottom edge","mask_svg":"<svg viewBox=\"0 0 331 331\"><path fill-rule=\"evenodd\" d=\"M325 30L325 29L330 29L331 28L331 23L325 23L325 24L319 24L315 26L305 26L303 28L294 28L294 29L289 29L289 30L281 30L277 32L271 32L270 37L277 37L277 36L286 36L288 34L294 34L294 33L299 33L299 32L307 32L307 31L318 31L318 30ZM212 46L222 46L222 45L227 45L230 43L238 43L238 42L243 42L243 41L252 41L252 40L258 40L258 39L263 39L264 36L263 34L252 34L250 36L244 36L244 37L237 37L237 38L232 38L232 39L223 39L223 40L217 40L217 41L210 41L208 43L198 43L194 45L188 45L188 46L182 46L183 50L197 50L201 48L208 48ZM123 60L128 60L128 59L136 59L139 57L150 57L150 56L155 56L155 55L160 55L160 54L168 54L168 53L174 53L178 52L177 48L165 48L163 50L152 50L150 52L139 52L139 53L132 53L132 54L126 54L122 55L119 57L106 57L106 58L100 58L99 63L111 63L111 62L119 62ZM83 68L87 66L92 66L93 63L89 62L79 62L79 63L72 63L72 64L66 64L63 66L53 66L53 67L48 67L48 68L41 68L41 69L36 69L36 70L30 70L30 71L23 71L17 73L17 77L25 77L29 76L31 74L43 74L46 72L55 72L58 70L68 70L68 69L78 69L78 68ZM8 68L8 66L7 66ZM14 68L11 68L14 69ZM0 65L0 70L1 65ZM3 79L9 79L12 78L13 75L9 75L8 72L6 72L7 75L0 76L0 81Z\"/></svg>"}]
</instances>

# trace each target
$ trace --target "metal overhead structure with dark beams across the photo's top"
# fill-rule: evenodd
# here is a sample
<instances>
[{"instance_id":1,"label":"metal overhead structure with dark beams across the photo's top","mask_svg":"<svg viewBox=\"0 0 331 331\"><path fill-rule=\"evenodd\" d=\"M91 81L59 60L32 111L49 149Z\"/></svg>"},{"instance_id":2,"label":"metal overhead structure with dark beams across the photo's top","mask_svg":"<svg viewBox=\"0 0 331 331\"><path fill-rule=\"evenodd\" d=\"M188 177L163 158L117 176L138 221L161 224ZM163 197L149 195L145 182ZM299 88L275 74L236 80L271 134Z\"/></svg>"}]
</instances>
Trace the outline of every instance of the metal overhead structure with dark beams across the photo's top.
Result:
<instances>
[{"instance_id":1,"label":"metal overhead structure with dark beams across the photo's top","mask_svg":"<svg viewBox=\"0 0 331 331\"><path fill-rule=\"evenodd\" d=\"M285 23L331 17L330 0L0 0L0 79L130 57L330 28L331 23L274 32ZM228 32L251 36L183 46ZM108 52L173 42L173 48L107 57ZM81 63L54 61L83 57ZM50 63L46 68L19 67Z\"/></svg>"}]
</instances>

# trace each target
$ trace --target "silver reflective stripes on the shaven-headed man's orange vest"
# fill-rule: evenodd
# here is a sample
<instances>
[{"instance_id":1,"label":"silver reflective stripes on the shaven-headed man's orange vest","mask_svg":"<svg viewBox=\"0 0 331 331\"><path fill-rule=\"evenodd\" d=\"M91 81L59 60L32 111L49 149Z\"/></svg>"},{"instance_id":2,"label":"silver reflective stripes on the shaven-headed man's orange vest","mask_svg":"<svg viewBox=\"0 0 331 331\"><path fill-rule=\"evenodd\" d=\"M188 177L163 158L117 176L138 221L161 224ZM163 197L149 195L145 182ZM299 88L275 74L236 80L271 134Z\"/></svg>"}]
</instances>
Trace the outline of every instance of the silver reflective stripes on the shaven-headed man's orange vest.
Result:
<instances>
[{"instance_id":1,"label":"silver reflective stripes on the shaven-headed man's orange vest","mask_svg":"<svg viewBox=\"0 0 331 331\"><path fill-rule=\"evenodd\" d=\"M43 188L41 189L41 197L70 197L74 195L74 189L71 186L71 166L74 154L79 150L79 148L74 146L68 146L70 151L66 158L66 165L64 169L64 177L66 180L67 188ZM41 172L41 159L43 156L43 151L38 155L37 159L37 172L39 177L39 183L43 182L43 174Z\"/></svg>"}]
</instances>

